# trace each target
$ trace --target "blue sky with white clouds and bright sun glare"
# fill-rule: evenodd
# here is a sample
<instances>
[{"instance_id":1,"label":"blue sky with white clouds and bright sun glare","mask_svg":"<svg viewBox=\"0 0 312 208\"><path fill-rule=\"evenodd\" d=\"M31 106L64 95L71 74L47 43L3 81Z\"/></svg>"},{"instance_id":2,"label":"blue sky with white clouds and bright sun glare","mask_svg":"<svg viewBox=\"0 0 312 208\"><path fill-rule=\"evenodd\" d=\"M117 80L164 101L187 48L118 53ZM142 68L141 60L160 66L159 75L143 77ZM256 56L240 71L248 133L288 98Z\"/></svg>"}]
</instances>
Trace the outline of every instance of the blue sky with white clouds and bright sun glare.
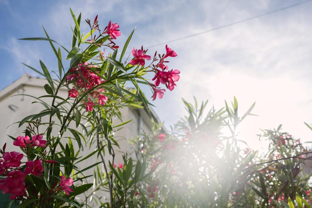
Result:
<instances>
[{"instance_id":1,"label":"blue sky with white clouds and bright sun glare","mask_svg":"<svg viewBox=\"0 0 312 208\"><path fill-rule=\"evenodd\" d=\"M121 36L116 43L123 46L137 26L129 48L145 48L154 44L223 26L268 11L295 4L290 0L259 1L22 1L0 0L0 89L14 80L35 72L22 66L25 62L40 69L41 59L48 69L57 71L57 61L46 41L19 41L23 37L49 36L67 48L74 27L69 7L78 16L82 12L80 30L88 32L84 19L99 15L103 28L109 20L118 22ZM209 99L208 106L224 106L235 95L239 116L256 102L253 113L241 123L241 137L251 148L261 142L259 128L283 129L310 141L312 131L304 121L312 123L312 2L275 12L247 22L208 32L168 44L178 56L168 58L170 68L181 71L177 87L167 90L163 99L153 102L165 125L172 125L186 114L181 97L193 101ZM165 52L163 46L149 49ZM128 55L128 54L127 54ZM65 57L63 56L63 59ZM148 88L144 92L150 97Z\"/></svg>"}]
</instances>

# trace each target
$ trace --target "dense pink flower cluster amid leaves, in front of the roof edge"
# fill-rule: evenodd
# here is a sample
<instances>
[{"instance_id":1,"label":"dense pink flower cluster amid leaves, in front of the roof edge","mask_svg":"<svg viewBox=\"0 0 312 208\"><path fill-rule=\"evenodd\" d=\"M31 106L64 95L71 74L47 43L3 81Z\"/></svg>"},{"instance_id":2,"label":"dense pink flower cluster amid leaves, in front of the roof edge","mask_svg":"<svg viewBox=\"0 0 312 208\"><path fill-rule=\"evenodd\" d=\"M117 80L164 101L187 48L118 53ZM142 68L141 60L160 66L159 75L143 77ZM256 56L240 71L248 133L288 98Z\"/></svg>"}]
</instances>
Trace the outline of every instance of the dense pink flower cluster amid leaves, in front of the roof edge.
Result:
<instances>
[{"instance_id":1,"label":"dense pink flower cluster amid leaves, in front of the roof edge","mask_svg":"<svg viewBox=\"0 0 312 208\"><path fill-rule=\"evenodd\" d=\"M77 97L80 91L81 93L85 93L89 91L91 88L98 86L99 84L105 82L101 77L96 75L94 72L90 70L90 66L88 67L88 63L85 62L83 64L79 64L77 68L72 68L70 70L70 74L66 76L66 82L73 82L74 87L68 91L69 97ZM105 105L108 98L103 95L103 88L96 89L89 93L95 100L97 100L97 104ZM94 100L93 99L93 100ZM88 97L87 102L84 102L86 111L93 111L93 106L95 103Z\"/></svg>"}]
</instances>

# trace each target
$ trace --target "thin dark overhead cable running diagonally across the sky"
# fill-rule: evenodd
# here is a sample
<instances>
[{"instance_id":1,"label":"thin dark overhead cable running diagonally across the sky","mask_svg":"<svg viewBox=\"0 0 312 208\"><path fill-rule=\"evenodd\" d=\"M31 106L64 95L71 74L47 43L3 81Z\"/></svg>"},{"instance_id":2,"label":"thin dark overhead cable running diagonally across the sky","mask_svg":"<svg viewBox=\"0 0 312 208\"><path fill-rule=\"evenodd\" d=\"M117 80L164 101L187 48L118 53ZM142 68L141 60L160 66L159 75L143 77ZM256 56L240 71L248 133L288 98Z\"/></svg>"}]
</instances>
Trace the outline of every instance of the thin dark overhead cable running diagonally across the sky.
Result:
<instances>
[{"instance_id":1,"label":"thin dark overhead cable running diagonally across the sky","mask_svg":"<svg viewBox=\"0 0 312 208\"><path fill-rule=\"evenodd\" d=\"M304 3L310 2L310 1L312 1L312 0L295 3L295 4L292 4L292 5L287 6L287 7L282 7L282 8L273 10L273 11L269 11L269 12L265 12L263 14L259 14L259 15L254 16L254 17L249 17L249 18L246 18L246 19L243 19L243 20L240 20L240 21L237 21L237 22L232 22L230 24L226 24L226 25L223 25L223 26L220 26L220 27L215 27L215 28L212 28L212 29L209 29L209 30L205 30L205 31L202 31L202 32L194 33L192 35L188 35L188 36L180 37L180 38L177 38L177 39L169 40L169 41L166 41L166 42L158 43L158 44L146 47L146 48L152 48L152 47L160 46L160 45L163 45L163 44L168 44L168 43L176 42L176 41L179 41L179 40L187 39L189 37L194 37L194 36L197 36L197 35L201 35L201 34L204 34L204 33L207 33L207 32L212 32L212 31L215 31L215 30L219 30L219 29L222 29L222 28L225 28L225 27L230 27L232 25L236 25L236 24L239 24L239 23L242 23L242 22L246 22L246 21L249 21L249 20L252 20L252 19L263 17L265 15L272 14L272 13L275 13L275 12L279 12L279 11L282 11L282 10L285 10L285 9L288 9L288 8L291 8L291 7L295 7L295 6L298 6L300 4L304 4Z\"/></svg>"}]
</instances>

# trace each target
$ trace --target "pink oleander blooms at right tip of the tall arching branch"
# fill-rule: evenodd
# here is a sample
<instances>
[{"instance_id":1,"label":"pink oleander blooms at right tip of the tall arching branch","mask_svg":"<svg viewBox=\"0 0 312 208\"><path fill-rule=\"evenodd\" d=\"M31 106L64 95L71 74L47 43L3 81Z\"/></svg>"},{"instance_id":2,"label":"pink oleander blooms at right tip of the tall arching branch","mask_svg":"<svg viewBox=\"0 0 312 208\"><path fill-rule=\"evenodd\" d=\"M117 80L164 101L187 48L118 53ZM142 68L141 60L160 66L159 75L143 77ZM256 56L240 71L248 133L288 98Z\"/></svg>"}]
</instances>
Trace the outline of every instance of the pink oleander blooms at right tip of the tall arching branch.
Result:
<instances>
[{"instance_id":1,"label":"pink oleander blooms at right tip of the tall arching branch","mask_svg":"<svg viewBox=\"0 0 312 208\"><path fill-rule=\"evenodd\" d=\"M151 57L146 55L145 53L147 52L143 50L143 47L141 48L141 50L132 49L132 55L134 57L133 60L131 60L129 62L129 64L131 65L137 65L139 64L139 66L143 66L145 65L145 60L151 60ZM154 55L154 61L158 61L158 59L156 59L156 54L157 52L155 52ZM164 92L166 92L165 89L161 89L159 86L160 83L164 84L170 91L172 91L174 89L174 86L177 86L175 84L175 82L178 82L180 76L178 74L180 74L179 70L169 70L169 67L167 65L165 65L165 63L167 63L168 61L165 61L165 58L167 57L176 57L177 53L174 52L171 48L168 47L168 45L166 45L166 54L163 54L163 56L159 55L159 62L157 65L153 64L153 71L155 72L155 76L152 79L154 81L154 84L150 84L152 86L152 89L154 91L153 93L153 101L156 99L156 97L158 98L162 98L164 95Z\"/></svg>"}]
</instances>

